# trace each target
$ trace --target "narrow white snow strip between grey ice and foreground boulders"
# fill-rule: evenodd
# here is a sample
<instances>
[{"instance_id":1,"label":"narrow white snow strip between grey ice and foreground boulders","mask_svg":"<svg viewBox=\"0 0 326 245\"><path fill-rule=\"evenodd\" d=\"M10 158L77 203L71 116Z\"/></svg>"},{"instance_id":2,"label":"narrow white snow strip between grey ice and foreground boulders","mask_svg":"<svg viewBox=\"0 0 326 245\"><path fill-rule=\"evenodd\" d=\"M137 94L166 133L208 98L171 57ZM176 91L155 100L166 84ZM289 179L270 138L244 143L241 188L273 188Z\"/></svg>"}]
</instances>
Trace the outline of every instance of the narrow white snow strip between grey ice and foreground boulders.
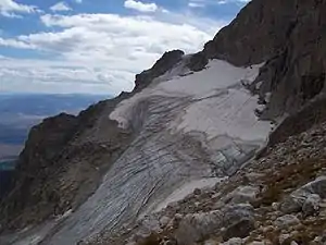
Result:
<instances>
[{"instance_id":1,"label":"narrow white snow strip between grey ice and foreground boulders","mask_svg":"<svg viewBox=\"0 0 326 245\"><path fill-rule=\"evenodd\" d=\"M168 204L179 201L193 193L196 188L209 188L213 187L215 184L222 182L225 177L209 177L197 181L191 181L189 183L184 184L176 191L174 191L168 197L166 197L161 204L159 204L155 208L155 212L167 207Z\"/></svg>"}]
</instances>

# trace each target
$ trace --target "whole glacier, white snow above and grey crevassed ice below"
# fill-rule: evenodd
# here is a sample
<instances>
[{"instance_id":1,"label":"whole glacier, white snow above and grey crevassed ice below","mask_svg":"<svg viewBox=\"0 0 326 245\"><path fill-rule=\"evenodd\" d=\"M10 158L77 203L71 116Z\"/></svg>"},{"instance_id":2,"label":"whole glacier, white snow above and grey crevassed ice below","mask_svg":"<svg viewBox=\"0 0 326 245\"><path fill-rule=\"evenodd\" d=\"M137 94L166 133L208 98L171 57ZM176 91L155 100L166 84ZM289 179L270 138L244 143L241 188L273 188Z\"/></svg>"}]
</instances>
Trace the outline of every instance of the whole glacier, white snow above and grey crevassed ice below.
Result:
<instances>
[{"instance_id":1,"label":"whole glacier, white snow above and grey crevassed ice below","mask_svg":"<svg viewBox=\"0 0 326 245\"><path fill-rule=\"evenodd\" d=\"M108 117L122 127L133 127L138 136L98 191L47 233L43 244L72 245L103 229L114 233L166 205L180 186L237 170L271 130L269 122L254 114L258 98L241 85L253 81L259 68L214 60L192 73L181 62L122 101Z\"/></svg>"}]
</instances>

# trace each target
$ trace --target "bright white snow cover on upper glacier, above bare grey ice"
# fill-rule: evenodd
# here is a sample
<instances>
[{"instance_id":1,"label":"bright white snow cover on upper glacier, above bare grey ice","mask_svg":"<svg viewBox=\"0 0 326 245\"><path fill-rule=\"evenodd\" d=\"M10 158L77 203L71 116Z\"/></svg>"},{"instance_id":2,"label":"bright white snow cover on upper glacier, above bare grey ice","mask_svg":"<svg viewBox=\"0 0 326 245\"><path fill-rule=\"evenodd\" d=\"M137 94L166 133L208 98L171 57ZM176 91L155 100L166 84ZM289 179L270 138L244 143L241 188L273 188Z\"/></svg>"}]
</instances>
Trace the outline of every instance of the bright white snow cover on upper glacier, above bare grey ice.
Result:
<instances>
[{"instance_id":1,"label":"bright white snow cover on upper glacier, above bare grey ice","mask_svg":"<svg viewBox=\"0 0 326 245\"><path fill-rule=\"evenodd\" d=\"M123 126L129 126L135 120L135 107L150 97L190 97L190 105L170 122L171 128L202 132L210 139L228 135L242 140L265 140L269 123L258 121L254 114L258 98L250 95L240 83L253 81L260 66L242 69L213 60L205 70L198 73L183 76L166 74L156 79L166 81L153 83L154 86L123 101L110 118Z\"/></svg>"}]
</instances>

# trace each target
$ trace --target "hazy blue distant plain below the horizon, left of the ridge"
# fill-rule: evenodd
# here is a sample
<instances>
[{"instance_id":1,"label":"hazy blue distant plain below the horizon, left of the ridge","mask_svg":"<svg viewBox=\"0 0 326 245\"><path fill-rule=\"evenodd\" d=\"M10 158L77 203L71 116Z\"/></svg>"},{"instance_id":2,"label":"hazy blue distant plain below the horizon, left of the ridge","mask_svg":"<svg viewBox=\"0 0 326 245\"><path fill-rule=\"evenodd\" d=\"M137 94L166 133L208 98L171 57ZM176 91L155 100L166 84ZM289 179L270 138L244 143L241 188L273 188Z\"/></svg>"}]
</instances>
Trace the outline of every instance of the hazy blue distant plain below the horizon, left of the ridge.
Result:
<instances>
[{"instance_id":1,"label":"hazy blue distant plain below the horizon, left of the ridge","mask_svg":"<svg viewBox=\"0 0 326 245\"><path fill-rule=\"evenodd\" d=\"M61 112L77 114L110 95L0 94L0 161L23 149L30 127Z\"/></svg>"}]
</instances>

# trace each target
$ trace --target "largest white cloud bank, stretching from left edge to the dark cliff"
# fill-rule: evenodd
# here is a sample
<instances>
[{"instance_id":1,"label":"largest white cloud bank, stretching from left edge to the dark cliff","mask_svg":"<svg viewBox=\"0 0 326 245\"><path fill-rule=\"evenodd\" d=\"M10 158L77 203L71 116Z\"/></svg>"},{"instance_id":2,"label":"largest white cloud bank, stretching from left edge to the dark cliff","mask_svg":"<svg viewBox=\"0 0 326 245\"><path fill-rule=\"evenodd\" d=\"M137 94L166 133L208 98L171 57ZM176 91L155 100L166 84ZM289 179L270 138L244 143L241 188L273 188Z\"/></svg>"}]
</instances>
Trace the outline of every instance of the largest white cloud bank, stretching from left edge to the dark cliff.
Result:
<instances>
[{"instance_id":1,"label":"largest white cloud bank, stretching from left edge to the dark cliff","mask_svg":"<svg viewBox=\"0 0 326 245\"><path fill-rule=\"evenodd\" d=\"M0 39L0 46L38 50L50 57L0 59L2 89L111 94L130 90L135 74L150 68L163 52L196 52L226 24L173 13L46 14L41 22L49 29L60 30Z\"/></svg>"}]
</instances>

